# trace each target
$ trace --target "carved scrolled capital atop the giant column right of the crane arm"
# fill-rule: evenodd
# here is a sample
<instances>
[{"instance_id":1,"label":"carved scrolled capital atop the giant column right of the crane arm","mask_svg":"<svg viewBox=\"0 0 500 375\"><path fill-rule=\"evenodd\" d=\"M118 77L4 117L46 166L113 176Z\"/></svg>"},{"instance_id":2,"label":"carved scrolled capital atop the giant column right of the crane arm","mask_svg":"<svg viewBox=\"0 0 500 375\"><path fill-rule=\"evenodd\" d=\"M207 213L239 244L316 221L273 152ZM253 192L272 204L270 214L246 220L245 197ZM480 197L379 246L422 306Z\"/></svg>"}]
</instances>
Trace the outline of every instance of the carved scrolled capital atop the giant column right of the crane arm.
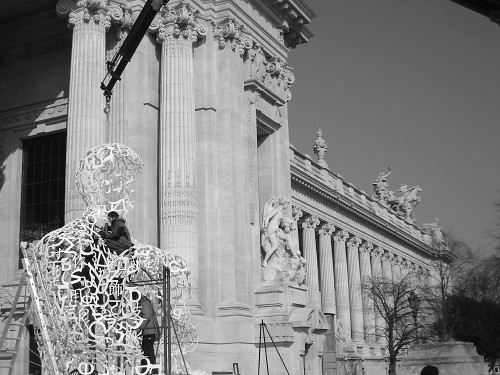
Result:
<instances>
[{"instance_id":1,"label":"carved scrolled capital atop the giant column right of the crane arm","mask_svg":"<svg viewBox=\"0 0 500 375\"><path fill-rule=\"evenodd\" d=\"M207 35L207 25L198 18L198 10L193 10L186 4L174 9L163 7L149 26L149 32L157 33L156 41L183 38L191 43Z\"/></svg>"}]
</instances>

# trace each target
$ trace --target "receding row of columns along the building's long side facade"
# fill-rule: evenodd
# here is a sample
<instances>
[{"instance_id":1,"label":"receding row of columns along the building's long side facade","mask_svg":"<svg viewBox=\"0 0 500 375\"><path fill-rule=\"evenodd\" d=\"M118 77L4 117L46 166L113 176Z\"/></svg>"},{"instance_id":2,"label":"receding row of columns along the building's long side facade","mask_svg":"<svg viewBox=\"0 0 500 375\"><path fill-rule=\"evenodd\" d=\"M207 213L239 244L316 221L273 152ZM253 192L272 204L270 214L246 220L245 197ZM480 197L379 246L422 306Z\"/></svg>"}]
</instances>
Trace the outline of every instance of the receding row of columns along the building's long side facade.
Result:
<instances>
[{"instance_id":1,"label":"receding row of columns along the building's long side facade","mask_svg":"<svg viewBox=\"0 0 500 375\"><path fill-rule=\"evenodd\" d=\"M362 281L380 276L398 280L409 272L423 270L313 215L304 215L301 228L301 252L307 261L308 303L321 307L325 314L336 315L337 324L348 340L380 341L375 327L381 327L383 320L362 290Z\"/></svg>"}]
</instances>

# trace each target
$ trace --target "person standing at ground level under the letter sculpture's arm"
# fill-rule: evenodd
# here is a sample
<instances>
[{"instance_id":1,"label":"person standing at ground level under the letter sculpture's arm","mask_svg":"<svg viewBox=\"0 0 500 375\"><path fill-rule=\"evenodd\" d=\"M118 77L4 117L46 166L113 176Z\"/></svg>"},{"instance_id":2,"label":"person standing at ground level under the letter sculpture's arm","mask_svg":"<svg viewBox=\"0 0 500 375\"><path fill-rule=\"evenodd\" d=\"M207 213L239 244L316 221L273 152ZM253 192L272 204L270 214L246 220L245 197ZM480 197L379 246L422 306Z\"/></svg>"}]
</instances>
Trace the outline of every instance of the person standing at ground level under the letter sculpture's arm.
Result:
<instances>
[{"instance_id":1,"label":"person standing at ground level under the letter sculpture's arm","mask_svg":"<svg viewBox=\"0 0 500 375\"><path fill-rule=\"evenodd\" d=\"M142 352L149 359L149 363L154 364L156 361L154 343L159 339L160 327L156 320L153 303L146 296L141 296L139 306L141 306L140 316L144 319L142 324L137 328L137 331L142 333ZM147 365L147 361L143 359L141 365ZM153 374L157 373L155 370L152 371Z\"/></svg>"}]
</instances>

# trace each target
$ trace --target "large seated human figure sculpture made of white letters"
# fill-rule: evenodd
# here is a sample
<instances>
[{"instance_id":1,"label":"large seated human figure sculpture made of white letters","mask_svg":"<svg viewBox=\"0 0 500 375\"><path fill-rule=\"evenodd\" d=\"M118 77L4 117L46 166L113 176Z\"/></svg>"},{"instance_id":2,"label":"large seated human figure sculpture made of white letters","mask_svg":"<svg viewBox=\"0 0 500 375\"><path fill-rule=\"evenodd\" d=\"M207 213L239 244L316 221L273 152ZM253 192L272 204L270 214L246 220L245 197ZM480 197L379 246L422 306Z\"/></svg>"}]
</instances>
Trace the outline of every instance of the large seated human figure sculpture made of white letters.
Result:
<instances>
[{"instance_id":1,"label":"large seated human figure sculpture made of white letters","mask_svg":"<svg viewBox=\"0 0 500 375\"><path fill-rule=\"evenodd\" d=\"M106 144L89 150L76 173L85 213L36 246L22 244L32 295L44 300L33 323L40 328L35 332L42 367L49 372L56 367L56 374L78 370L118 375L159 368L160 364L141 366L145 357L137 328L144 320L141 296L149 298L155 318L161 318L162 284L144 282L157 279L164 266L171 270L173 325L180 340L180 348L177 341L172 346L172 364L175 373L186 371L180 349L192 351L197 343L196 329L189 323L186 260L135 239L131 248L117 254L100 236L100 223L109 211L126 217L132 209L130 184L141 170L142 161L127 146Z\"/></svg>"}]
</instances>

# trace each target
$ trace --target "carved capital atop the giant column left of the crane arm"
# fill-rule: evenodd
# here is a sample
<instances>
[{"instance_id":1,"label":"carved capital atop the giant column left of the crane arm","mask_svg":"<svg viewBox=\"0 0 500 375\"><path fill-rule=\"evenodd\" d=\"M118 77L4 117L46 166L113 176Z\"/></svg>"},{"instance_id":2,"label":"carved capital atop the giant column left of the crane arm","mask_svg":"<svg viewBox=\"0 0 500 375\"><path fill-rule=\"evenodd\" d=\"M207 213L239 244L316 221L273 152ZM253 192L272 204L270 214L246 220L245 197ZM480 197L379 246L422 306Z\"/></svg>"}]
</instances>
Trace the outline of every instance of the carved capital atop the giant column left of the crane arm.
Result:
<instances>
[{"instance_id":1,"label":"carved capital atop the giant column left of the crane arm","mask_svg":"<svg viewBox=\"0 0 500 375\"><path fill-rule=\"evenodd\" d=\"M111 26L108 11L109 6L106 0L59 0L56 5L59 17L69 16L70 27L94 23L102 25L107 30Z\"/></svg>"}]
</instances>

